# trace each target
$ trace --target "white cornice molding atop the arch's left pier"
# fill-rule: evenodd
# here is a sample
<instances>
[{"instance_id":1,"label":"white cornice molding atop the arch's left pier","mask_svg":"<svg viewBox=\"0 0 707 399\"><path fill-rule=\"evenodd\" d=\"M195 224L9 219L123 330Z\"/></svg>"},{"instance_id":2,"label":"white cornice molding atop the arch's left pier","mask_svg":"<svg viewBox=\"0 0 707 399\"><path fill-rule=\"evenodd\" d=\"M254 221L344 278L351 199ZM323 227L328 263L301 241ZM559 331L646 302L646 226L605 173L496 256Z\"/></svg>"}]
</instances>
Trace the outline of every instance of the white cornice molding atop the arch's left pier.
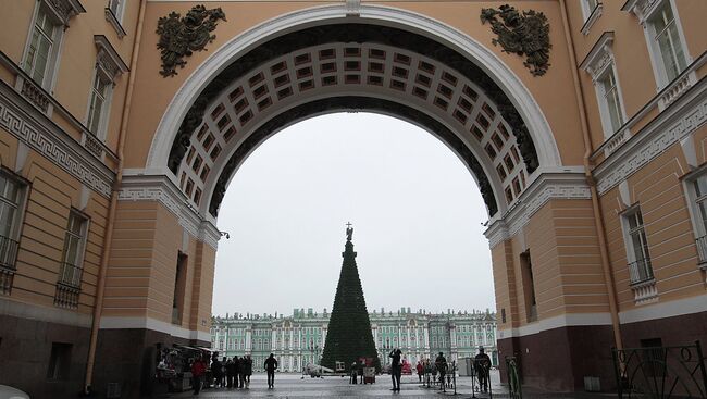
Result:
<instances>
[{"instance_id":1,"label":"white cornice molding atop the arch's left pier","mask_svg":"<svg viewBox=\"0 0 707 399\"><path fill-rule=\"evenodd\" d=\"M216 249L221 235L216 226L202 217L166 176L127 175L117 192L119 201L158 201L173 213L191 236Z\"/></svg>"}]
</instances>

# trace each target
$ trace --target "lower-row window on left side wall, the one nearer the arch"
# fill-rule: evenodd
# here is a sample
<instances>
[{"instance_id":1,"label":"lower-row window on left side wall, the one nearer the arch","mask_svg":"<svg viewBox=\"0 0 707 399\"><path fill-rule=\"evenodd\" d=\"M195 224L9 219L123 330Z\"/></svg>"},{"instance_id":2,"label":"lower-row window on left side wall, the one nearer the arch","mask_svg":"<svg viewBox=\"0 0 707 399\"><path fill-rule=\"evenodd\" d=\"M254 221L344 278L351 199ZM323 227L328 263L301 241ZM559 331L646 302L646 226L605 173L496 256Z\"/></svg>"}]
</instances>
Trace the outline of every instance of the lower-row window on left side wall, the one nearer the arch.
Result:
<instances>
[{"instance_id":1,"label":"lower-row window on left side wall, the one nearer the arch","mask_svg":"<svg viewBox=\"0 0 707 399\"><path fill-rule=\"evenodd\" d=\"M59 272L59 283L63 285L80 287L87 226L88 219L78 212L72 211L69 214L69 224L64 235L64 253Z\"/></svg>"}]
</instances>

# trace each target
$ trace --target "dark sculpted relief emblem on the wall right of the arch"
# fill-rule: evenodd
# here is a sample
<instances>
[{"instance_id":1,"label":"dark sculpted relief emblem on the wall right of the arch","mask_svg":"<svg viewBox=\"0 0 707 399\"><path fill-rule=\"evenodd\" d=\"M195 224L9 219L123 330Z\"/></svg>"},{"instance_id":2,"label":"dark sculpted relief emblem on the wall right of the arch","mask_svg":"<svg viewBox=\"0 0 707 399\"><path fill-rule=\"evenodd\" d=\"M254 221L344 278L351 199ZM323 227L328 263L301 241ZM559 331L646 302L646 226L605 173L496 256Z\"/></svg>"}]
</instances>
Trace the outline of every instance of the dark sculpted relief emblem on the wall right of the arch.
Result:
<instances>
[{"instance_id":1,"label":"dark sculpted relief emblem on the wall right of the arch","mask_svg":"<svg viewBox=\"0 0 707 399\"><path fill-rule=\"evenodd\" d=\"M496 16L500 17L498 21ZM504 52L525 55L523 65L533 76L543 76L550 66L550 25L544 13L535 10L516 10L504 4L496 9L481 9L481 23L491 24L491 30L498 36L491 42L500 45Z\"/></svg>"}]
</instances>

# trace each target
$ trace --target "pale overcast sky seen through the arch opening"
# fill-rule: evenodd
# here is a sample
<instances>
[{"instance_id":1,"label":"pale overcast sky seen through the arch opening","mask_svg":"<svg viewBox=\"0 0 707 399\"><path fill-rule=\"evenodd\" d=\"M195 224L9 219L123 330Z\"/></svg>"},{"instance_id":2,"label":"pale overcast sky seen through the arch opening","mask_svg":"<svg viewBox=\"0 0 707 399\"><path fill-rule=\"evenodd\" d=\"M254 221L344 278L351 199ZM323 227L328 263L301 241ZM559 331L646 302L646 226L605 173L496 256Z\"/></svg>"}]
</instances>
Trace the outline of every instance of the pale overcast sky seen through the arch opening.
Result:
<instances>
[{"instance_id":1,"label":"pale overcast sky seen through the arch opening","mask_svg":"<svg viewBox=\"0 0 707 399\"><path fill-rule=\"evenodd\" d=\"M486 219L471 174L427 132L310 119L259 147L226 191L213 314L331 311L349 221L369 311L493 310Z\"/></svg>"}]
</instances>

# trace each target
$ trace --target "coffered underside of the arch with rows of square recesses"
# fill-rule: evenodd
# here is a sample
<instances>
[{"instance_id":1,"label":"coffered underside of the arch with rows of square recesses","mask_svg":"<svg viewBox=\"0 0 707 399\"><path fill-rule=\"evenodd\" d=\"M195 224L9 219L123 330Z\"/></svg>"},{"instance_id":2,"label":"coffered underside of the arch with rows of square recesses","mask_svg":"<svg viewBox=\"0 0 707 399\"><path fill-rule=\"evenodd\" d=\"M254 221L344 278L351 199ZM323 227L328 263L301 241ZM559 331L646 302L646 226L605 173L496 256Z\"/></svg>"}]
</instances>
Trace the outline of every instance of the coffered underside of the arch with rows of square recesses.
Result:
<instances>
[{"instance_id":1,"label":"coffered underside of the arch with rows of square recesses","mask_svg":"<svg viewBox=\"0 0 707 399\"><path fill-rule=\"evenodd\" d=\"M199 93L166 166L201 214L216 217L238 166L268 137L313 115L371 111L442 139L503 214L541 165L518 110L494 79L425 36L370 24L309 27L245 53Z\"/></svg>"}]
</instances>

